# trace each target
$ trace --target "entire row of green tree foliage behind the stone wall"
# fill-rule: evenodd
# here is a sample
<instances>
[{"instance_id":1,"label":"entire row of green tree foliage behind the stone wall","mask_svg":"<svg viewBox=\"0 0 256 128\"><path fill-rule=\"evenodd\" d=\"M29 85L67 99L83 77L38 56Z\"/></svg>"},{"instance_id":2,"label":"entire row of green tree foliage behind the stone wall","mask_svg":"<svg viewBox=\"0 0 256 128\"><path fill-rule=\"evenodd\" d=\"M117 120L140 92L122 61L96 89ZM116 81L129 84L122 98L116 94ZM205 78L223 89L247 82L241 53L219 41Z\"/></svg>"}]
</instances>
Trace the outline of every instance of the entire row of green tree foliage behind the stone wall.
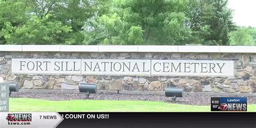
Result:
<instances>
[{"instance_id":1,"label":"entire row of green tree foliage behind the stone wall","mask_svg":"<svg viewBox=\"0 0 256 128\"><path fill-rule=\"evenodd\" d=\"M255 39L251 30L235 30L227 0L0 0L0 44L239 45ZM242 34L250 36L235 37Z\"/></svg>"}]
</instances>

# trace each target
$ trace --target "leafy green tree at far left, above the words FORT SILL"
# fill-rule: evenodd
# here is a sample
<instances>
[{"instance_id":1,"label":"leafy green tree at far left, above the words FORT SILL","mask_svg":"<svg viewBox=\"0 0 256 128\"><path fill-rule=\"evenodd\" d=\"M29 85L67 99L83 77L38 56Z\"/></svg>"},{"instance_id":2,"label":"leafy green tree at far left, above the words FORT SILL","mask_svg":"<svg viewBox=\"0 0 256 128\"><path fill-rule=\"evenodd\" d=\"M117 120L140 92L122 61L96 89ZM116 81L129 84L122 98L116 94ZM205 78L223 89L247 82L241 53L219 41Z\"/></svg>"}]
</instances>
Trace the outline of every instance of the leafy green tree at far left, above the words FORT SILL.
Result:
<instances>
[{"instance_id":1,"label":"leafy green tree at far left, above the words FORT SILL","mask_svg":"<svg viewBox=\"0 0 256 128\"><path fill-rule=\"evenodd\" d=\"M4 42L8 44L82 44L83 26L87 19L95 15L98 1L46 1L38 0L15 8L16 2L5 2L12 13L18 12L19 17L26 21L16 25L11 19L2 23ZM2 15L1 17L6 17ZM0 19L1 19L0 17Z\"/></svg>"}]
</instances>

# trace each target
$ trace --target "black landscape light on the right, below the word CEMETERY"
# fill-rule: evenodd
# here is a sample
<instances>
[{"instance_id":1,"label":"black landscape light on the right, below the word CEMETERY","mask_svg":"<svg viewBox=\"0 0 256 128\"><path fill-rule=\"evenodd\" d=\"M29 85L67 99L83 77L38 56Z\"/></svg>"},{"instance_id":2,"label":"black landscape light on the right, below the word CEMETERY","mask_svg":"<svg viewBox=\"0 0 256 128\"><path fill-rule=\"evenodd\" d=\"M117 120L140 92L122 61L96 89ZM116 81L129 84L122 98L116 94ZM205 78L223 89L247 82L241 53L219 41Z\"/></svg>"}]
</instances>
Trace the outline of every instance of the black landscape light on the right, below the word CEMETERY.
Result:
<instances>
[{"instance_id":1,"label":"black landscape light on the right, below the word CEMETERY","mask_svg":"<svg viewBox=\"0 0 256 128\"><path fill-rule=\"evenodd\" d=\"M185 91L183 88L178 87L166 87L165 89L165 96L166 97L173 97L176 100L176 97L183 97L185 96Z\"/></svg>"}]
</instances>

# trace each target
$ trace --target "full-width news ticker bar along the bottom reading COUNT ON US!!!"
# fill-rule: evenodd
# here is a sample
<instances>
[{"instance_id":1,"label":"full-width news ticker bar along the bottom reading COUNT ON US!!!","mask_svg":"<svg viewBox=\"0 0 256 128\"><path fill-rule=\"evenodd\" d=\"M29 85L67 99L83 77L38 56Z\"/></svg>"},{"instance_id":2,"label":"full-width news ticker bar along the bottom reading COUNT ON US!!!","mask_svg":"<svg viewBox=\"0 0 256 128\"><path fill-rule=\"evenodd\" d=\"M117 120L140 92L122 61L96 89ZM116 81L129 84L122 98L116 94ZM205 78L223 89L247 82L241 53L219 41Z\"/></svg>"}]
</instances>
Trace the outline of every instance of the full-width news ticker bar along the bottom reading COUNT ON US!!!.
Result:
<instances>
[{"instance_id":1,"label":"full-width news ticker bar along the bottom reading COUNT ON US!!!","mask_svg":"<svg viewBox=\"0 0 256 128\"><path fill-rule=\"evenodd\" d=\"M0 127L234 128L255 127L255 118L255 112L0 112Z\"/></svg>"}]
</instances>

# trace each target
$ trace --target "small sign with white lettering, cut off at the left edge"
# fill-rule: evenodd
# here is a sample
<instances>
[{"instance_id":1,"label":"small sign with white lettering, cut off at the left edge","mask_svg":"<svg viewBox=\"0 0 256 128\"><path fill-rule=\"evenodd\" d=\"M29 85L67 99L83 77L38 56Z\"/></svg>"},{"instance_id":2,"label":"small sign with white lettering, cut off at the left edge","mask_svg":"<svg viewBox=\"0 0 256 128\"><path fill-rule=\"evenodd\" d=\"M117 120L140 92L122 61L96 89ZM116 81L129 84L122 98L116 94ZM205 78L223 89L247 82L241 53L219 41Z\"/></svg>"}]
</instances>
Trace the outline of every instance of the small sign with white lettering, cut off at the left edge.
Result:
<instances>
[{"instance_id":1,"label":"small sign with white lettering, cut off at the left edge","mask_svg":"<svg viewBox=\"0 0 256 128\"><path fill-rule=\"evenodd\" d=\"M9 83L0 83L0 112L9 111Z\"/></svg>"}]
</instances>

